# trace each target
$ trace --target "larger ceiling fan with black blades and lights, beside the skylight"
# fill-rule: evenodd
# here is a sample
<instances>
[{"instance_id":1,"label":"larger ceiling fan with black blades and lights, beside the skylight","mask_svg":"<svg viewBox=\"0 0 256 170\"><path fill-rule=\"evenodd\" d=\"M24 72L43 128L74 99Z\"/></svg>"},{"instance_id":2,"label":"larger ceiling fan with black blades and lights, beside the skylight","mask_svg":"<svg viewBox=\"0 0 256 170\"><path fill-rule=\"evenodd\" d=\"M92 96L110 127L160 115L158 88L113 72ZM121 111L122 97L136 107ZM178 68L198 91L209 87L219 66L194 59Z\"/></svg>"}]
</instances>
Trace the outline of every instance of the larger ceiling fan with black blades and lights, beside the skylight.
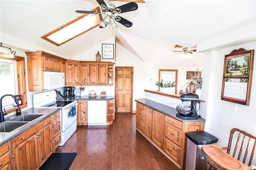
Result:
<instances>
[{"instance_id":1,"label":"larger ceiling fan with black blades and lights, beside the skylight","mask_svg":"<svg viewBox=\"0 0 256 170\"><path fill-rule=\"evenodd\" d=\"M95 11L80 11L77 10L77 13L90 13L90 14L104 14L105 17L100 21L99 28L105 28L106 26L110 25L112 26L112 29L117 28L118 25L116 24L115 20L119 23L121 23L125 27L132 27L133 23L121 16L114 16L114 14L121 14L125 12L135 11L138 9L138 5L135 2L130 2L124 5L121 5L119 7L116 7L114 4L112 4L108 0L108 3L105 3L104 0L96 0L97 3L101 7L102 12L95 12Z\"/></svg>"}]
</instances>

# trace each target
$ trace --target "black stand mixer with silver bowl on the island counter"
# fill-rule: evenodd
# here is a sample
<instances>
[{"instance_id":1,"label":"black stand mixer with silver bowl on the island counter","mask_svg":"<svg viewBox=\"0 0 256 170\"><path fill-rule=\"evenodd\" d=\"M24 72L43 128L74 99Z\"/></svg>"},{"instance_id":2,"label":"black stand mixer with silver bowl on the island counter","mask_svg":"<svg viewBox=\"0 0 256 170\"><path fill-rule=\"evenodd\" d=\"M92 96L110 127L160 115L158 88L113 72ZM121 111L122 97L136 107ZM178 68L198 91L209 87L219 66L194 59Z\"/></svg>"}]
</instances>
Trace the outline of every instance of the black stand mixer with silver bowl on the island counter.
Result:
<instances>
[{"instance_id":1,"label":"black stand mixer with silver bowl on the island counter","mask_svg":"<svg viewBox=\"0 0 256 170\"><path fill-rule=\"evenodd\" d=\"M197 102L199 101L199 96L197 94L181 94L180 99L182 105L176 107L178 111L176 116L184 119L198 119ZM191 101L190 106L183 105L183 102L187 101Z\"/></svg>"}]
</instances>

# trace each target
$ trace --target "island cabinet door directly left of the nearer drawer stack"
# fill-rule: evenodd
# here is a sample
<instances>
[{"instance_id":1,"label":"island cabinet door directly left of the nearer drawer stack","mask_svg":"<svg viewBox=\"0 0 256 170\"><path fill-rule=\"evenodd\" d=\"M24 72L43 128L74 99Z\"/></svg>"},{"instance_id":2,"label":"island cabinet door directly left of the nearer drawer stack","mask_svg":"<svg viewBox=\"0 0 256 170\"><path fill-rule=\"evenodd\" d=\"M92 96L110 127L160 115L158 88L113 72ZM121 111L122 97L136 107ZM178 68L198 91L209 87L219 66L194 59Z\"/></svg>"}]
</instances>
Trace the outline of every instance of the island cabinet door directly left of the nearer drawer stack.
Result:
<instances>
[{"instance_id":1,"label":"island cabinet door directly left of the nearer drawer stack","mask_svg":"<svg viewBox=\"0 0 256 170\"><path fill-rule=\"evenodd\" d=\"M152 140L161 148L163 148L163 130L164 115L154 110L152 118Z\"/></svg>"}]
</instances>

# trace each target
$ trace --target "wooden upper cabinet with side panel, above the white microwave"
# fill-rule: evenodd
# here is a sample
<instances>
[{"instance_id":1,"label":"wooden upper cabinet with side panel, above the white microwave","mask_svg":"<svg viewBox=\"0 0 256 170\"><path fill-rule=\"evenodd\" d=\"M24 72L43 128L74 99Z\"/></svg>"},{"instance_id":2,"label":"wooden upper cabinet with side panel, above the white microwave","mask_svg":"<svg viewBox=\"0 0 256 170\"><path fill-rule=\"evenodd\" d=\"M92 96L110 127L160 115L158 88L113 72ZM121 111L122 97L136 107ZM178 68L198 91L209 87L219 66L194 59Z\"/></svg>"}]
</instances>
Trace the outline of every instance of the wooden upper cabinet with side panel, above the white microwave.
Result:
<instances>
[{"instance_id":1,"label":"wooden upper cabinet with side panel, above the white microwave","mask_svg":"<svg viewBox=\"0 0 256 170\"><path fill-rule=\"evenodd\" d=\"M43 71L63 71L63 64L66 59L42 52L26 52L28 63L28 83L29 91L42 91Z\"/></svg>"}]
</instances>

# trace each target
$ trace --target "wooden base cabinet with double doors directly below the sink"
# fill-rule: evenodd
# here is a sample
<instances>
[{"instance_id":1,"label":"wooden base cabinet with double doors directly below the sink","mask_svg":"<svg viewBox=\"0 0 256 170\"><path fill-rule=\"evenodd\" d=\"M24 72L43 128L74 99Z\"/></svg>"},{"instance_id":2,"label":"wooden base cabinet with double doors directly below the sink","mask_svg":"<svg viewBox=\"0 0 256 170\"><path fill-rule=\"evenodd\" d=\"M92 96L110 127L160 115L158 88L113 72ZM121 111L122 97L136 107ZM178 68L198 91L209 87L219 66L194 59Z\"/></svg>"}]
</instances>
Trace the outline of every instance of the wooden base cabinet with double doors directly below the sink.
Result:
<instances>
[{"instance_id":1,"label":"wooden base cabinet with double doors directly below the sink","mask_svg":"<svg viewBox=\"0 0 256 170\"><path fill-rule=\"evenodd\" d=\"M39 169L55 152L53 133L56 132L52 131L54 125L52 121L56 115L59 115L59 112L9 141L13 169ZM60 129L58 129L59 133Z\"/></svg>"}]
</instances>

